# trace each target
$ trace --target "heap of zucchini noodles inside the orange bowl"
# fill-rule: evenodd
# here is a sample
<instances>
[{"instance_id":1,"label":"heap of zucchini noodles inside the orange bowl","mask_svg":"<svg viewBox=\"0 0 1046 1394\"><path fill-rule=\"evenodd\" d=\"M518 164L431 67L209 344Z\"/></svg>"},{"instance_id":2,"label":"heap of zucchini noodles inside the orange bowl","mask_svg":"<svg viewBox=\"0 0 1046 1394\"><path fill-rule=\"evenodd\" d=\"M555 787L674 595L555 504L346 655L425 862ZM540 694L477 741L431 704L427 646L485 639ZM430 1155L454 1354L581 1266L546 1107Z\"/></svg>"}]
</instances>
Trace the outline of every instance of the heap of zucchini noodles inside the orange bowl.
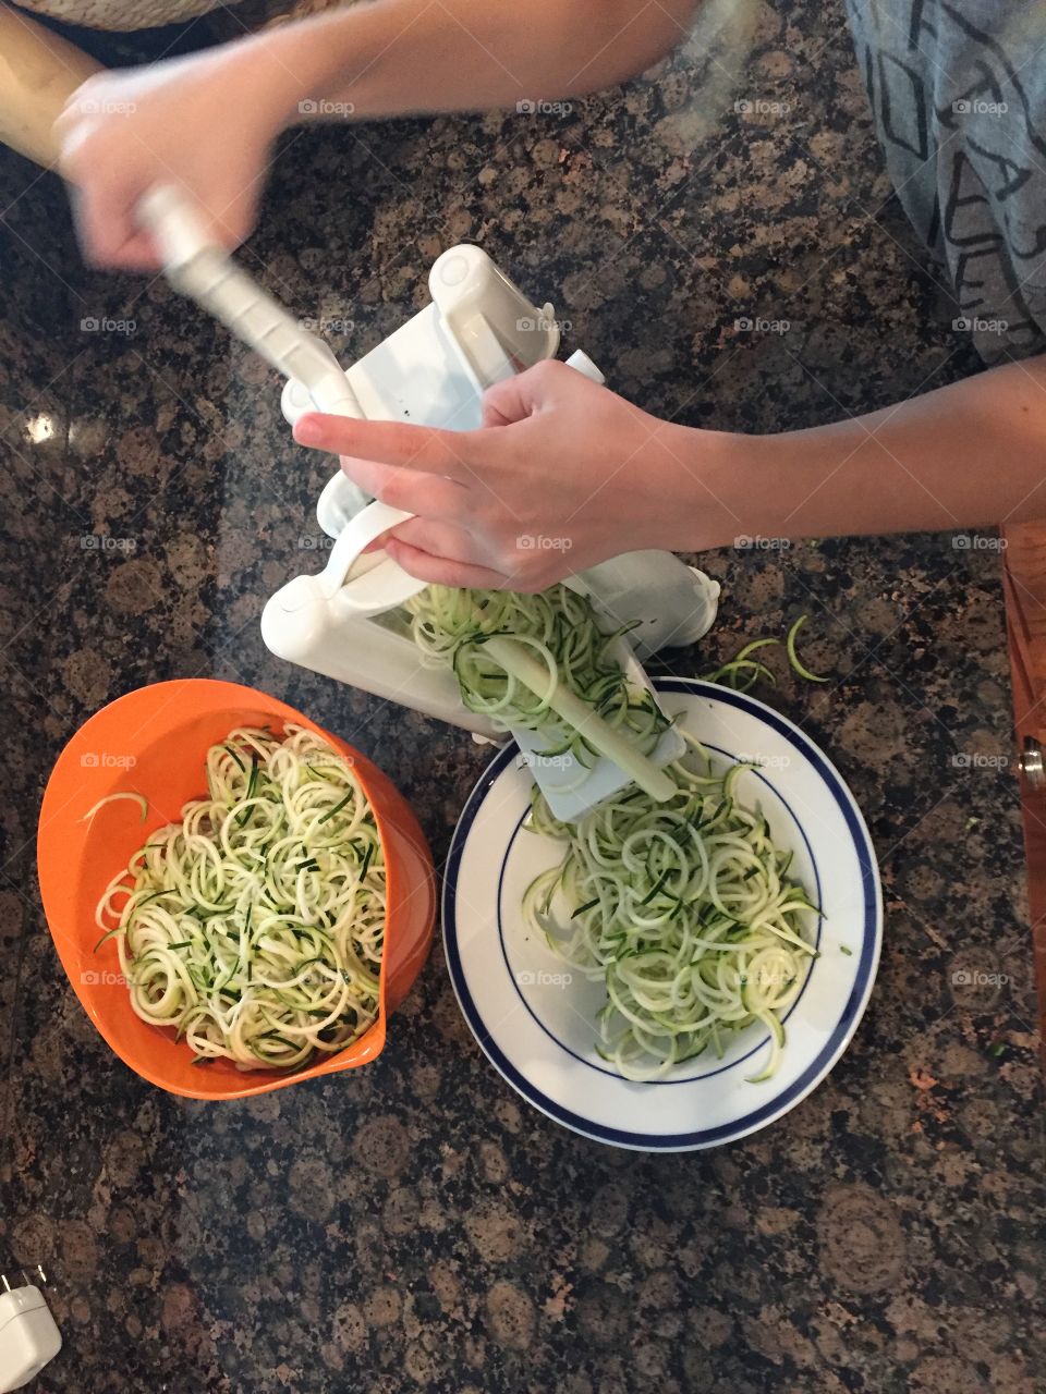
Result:
<instances>
[{"instance_id":1,"label":"heap of zucchini noodles inside the orange bowl","mask_svg":"<svg viewBox=\"0 0 1046 1394\"><path fill-rule=\"evenodd\" d=\"M378 1015L385 861L350 763L287 723L237 728L204 799L151 834L98 903L131 1006L195 1064L294 1069Z\"/></svg>"}]
</instances>

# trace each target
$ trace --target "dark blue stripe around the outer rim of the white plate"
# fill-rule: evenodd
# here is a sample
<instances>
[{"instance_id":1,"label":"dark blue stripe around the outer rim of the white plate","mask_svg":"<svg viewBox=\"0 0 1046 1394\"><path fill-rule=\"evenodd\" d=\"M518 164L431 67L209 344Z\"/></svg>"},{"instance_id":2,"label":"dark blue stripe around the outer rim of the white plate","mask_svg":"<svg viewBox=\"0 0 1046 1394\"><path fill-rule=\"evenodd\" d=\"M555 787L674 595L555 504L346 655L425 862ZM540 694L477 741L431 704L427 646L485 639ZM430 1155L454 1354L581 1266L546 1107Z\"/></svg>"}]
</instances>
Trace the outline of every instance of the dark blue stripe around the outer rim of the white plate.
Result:
<instances>
[{"instance_id":1,"label":"dark blue stripe around the outer rim of the white plate","mask_svg":"<svg viewBox=\"0 0 1046 1394\"><path fill-rule=\"evenodd\" d=\"M566 1128L572 1128L575 1132L583 1133L586 1138L594 1138L600 1142L607 1142L618 1147L635 1147L646 1151L682 1151L729 1142L734 1138L742 1138L746 1133L755 1132L763 1124L780 1117L796 1104L824 1078L824 1075L828 1073L831 1066L840 1058L854 1034L865 1006L867 1005L867 998L872 994L880 935L879 871L876 868L874 852L872 849L867 829L852 796L820 750L817 750L813 742L809 740L809 737L803 735L798 726L794 726L792 722L785 721L785 718L780 717L768 707L764 707L763 703L755 701L743 693L735 693L727 687L703 683L697 679L655 677L654 687L658 691L706 696L714 701L736 707L739 711L748 712L750 717L766 722L767 726L789 742L789 744L792 744L805 756L806 760L810 761L842 813L854 842L858 864L861 866L861 880L865 895L863 935L854 990L851 991L845 1006L840 1012L835 1029L816 1059L810 1062L808 1069L805 1069L803 1073L792 1085L789 1085L787 1090L784 1090L784 1093L777 1094L761 1108L756 1108L750 1114L745 1114L743 1118L738 1118L729 1124L722 1124L718 1128L703 1128L697 1132L689 1133L635 1133L625 1132L618 1128L604 1128L601 1124L594 1124L591 1119L582 1118L569 1108L563 1108L561 1104L556 1104L554 1100L543 1094L541 1090L536 1089L530 1080L520 1075L516 1066L506 1059L503 1052L498 1048L494 1039L487 1032L483 1018L471 999L464 980L460 953L457 951L456 919L457 875L469 834L491 788L509 763L515 760L517 754L515 744L508 746L494 757L478 783L469 795L464 809L462 810L462 815L457 820L457 827L455 828L453 839L450 842L450 853L448 856L444 881L444 949L446 952L446 963L450 972L450 983L473 1036L490 1058L491 1064L505 1076L513 1089L516 1089L536 1108L556 1122L563 1124Z\"/></svg>"}]
</instances>

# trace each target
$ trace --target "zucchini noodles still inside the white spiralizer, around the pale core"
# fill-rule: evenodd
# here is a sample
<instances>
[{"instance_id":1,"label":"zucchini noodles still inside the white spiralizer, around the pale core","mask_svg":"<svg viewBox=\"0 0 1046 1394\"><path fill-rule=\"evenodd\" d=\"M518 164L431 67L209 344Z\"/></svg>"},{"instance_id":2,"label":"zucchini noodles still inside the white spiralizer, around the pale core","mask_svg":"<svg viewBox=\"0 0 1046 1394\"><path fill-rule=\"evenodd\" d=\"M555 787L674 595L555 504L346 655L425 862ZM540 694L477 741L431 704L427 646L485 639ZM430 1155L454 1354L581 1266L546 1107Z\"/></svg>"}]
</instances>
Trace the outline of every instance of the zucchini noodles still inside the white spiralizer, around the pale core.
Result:
<instances>
[{"instance_id":1,"label":"zucchini noodles still inside the white spiralizer, around the pale core","mask_svg":"<svg viewBox=\"0 0 1046 1394\"><path fill-rule=\"evenodd\" d=\"M430 585L406 602L411 634L431 668L452 668L462 701L499 730L540 730L549 740L540 758L573 754L591 764L601 751L586 732L552 710L558 687L580 697L607 725L646 756L669 725L653 694L629 686L614 650L632 626L600 627L587 595L558 584L538 595ZM531 691L487 651L510 636L541 665L543 690Z\"/></svg>"}]
</instances>

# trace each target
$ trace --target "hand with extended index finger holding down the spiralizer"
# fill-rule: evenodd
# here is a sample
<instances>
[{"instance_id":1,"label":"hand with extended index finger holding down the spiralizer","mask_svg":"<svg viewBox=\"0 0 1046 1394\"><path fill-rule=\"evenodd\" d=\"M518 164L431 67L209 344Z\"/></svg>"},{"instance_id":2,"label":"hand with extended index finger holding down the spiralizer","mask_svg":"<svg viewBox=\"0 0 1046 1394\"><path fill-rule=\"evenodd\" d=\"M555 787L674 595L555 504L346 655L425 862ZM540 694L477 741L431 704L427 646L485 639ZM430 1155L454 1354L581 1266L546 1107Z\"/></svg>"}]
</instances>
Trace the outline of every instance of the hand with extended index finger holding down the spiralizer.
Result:
<instances>
[{"instance_id":1,"label":"hand with extended index finger holding down the spiralizer","mask_svg":"<svg viewBox=\"0 0 1046 1394\"><path fill-rule=\"evenodd\" d=\"M735 531L704 464L699 481L686 463L697 442L711 463L725 436L658 421L562 362L491 388L483 420L459 432L308 415L294 436L340 453L363 489L416 513L385 546L411 576L444 585L538 591L621 552L682 549L695 496L704 545Z\"/></svg>"}]
</instances>

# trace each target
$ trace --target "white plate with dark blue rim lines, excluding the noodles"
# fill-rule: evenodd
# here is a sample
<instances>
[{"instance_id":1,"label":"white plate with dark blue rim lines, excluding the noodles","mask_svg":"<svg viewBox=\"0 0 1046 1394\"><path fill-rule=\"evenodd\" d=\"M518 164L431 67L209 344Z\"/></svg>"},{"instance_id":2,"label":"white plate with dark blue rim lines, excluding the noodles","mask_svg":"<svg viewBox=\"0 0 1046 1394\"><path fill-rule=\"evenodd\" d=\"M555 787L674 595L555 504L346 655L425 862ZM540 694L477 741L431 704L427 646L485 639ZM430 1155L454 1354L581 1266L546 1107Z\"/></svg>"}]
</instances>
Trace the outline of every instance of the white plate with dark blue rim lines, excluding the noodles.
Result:
<instances>
[{"instance_id":1,"label":"white plate with dark blue rim lines, excluding the noodles","mask_svg":"<svg viewBox=\"0 0 1046 1394\"><path fill-rule=\"evenodd\" d=\"M529 1103L586 1138L640 1151L690 1151L766 1128L805 1098L849 1044L872 994L883 899L865 820L838 771L796 725L743 693L655 679L665 712L722 769L755 763L738 797L757 806L791 874L820 906L803 988L784 1016L775 1073L761 1025L736 1032L658 1080L622 1079L597 1050L600 981L565 963L522 913L562 843L530 832L531 778L515 746L491 761L455 829L444 885L444 945L457 1001L495 1069ZM813 916L810 917L814 919Z\"/></svg>"}]
</instances>

